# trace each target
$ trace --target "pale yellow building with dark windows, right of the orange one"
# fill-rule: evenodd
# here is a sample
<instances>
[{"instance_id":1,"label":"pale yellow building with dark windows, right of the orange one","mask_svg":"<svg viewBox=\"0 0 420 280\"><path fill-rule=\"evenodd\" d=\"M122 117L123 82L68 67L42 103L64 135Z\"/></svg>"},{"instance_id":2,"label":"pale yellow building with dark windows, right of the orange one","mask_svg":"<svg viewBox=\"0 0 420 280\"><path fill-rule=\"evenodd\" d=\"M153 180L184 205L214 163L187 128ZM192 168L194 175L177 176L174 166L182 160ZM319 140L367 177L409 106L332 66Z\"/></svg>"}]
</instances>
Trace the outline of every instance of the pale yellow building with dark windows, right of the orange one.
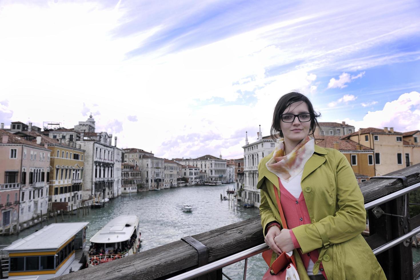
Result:
<instances>
[{"instance_id":1,"label":"pale yellow building with dark windows, right of the orange one","mask_svg":"<svg viewBox=\"0 0 420 280\"><path fill-rule=\"evenodd\" d=\"M403 133L393 128L361 128L359 131L341 137L374 150L375 175L385 175L406 167L404 164Z\"/></svg>"}]
</instances>

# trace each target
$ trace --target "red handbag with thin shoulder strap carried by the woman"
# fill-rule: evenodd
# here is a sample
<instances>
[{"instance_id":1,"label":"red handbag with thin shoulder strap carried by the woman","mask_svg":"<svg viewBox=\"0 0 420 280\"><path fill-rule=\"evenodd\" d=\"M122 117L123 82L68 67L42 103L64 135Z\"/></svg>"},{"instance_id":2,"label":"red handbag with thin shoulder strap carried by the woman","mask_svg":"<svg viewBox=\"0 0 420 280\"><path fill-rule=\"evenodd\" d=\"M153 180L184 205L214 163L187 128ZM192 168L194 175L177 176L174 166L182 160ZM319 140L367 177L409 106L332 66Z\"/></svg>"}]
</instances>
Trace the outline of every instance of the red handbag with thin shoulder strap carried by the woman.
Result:
<instances>
[{"instance_id":1,"label":"red handbag with thin shoulder strap carried by the woman","mask_svg":"<svg viewBox=\"0 0 420 280\"><path fill-rule=\"evenodd\" d=\"M280 181L280 180L279 180ZM279 182L281 183L281 182ZM274 187L274 193L276 194L278 212L280 213L281 223L283 228L287 229L286 218L283 214L283 209L281 208L280 198L278 196L278 191L276 186ZM270 267L267 272L265 272L262 277L263 280L299 280L299 275L297 274L296 260L294 259L291 252L282 252L280 256L277 256L276 260L271 263L271 258L273 256L273 250L267 250L262 252L262 258Z\"/></svg>"}]
</instances>

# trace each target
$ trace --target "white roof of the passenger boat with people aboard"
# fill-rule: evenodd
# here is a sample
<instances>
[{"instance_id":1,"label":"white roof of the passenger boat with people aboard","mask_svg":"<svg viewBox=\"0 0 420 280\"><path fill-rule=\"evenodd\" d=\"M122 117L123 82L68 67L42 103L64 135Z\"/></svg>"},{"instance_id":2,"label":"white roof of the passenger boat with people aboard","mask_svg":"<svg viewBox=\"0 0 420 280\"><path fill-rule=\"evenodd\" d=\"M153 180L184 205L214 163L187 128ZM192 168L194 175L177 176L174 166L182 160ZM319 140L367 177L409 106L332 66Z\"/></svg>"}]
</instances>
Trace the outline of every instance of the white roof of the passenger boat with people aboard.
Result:
<instances>
[{"instance_id":1,"label":"white roof of the passenger boat with people aboard","mask_svg":"<svg viewBox=\"0 0 420 280\"><path fill-rule=\"evenodd\" d=\"M139 218L136 215L115 217L92 236L89 241L91 243L115 243L129 240L138 224Z\"/></svg>"}]
</instances>

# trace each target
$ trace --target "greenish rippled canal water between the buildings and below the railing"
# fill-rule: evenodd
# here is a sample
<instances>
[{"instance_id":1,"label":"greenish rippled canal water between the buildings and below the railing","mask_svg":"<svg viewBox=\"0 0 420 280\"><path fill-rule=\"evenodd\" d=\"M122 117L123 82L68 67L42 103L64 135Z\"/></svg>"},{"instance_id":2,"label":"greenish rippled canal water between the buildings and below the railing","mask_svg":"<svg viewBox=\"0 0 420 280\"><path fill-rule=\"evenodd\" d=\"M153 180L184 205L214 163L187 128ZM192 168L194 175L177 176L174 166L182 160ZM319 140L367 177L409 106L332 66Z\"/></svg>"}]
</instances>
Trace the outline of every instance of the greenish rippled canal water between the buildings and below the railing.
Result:
<instances>
[{"instance_id":1,"label":"greenish rippled canal water between the buildings and below the railing","mask_svg":"<svg viewBox=\"0 0 420 280\"><path fill-rule=\"evenodd\" d=\"M64 222L89 222L87 240L100 230L109 220L122 214L136 214L140 219L142 243L140 251L177 241L182 237L220 228L259 215L257 208L236 206L234 201L221 201L220 194L233 184L221 186L189 186L160 191L143 191L123 194L101 209L89 209L89 215L82 217L64 215ZM226 194L226 193L225 193ZM192 204L192 212L183 212L181 204ZM50 219L49 223L55 222ZM58 216L61 222L61 216ZM44 222L43 226L46 223ZM41 228L35 225L21 231L19 236L1 236L0 245L10 244ZM247 279L260 280L267 270L261 254L248 259ZM223 272L233 280L243 279L244 261L223 268Z\"/></svg>"}]
</instances>

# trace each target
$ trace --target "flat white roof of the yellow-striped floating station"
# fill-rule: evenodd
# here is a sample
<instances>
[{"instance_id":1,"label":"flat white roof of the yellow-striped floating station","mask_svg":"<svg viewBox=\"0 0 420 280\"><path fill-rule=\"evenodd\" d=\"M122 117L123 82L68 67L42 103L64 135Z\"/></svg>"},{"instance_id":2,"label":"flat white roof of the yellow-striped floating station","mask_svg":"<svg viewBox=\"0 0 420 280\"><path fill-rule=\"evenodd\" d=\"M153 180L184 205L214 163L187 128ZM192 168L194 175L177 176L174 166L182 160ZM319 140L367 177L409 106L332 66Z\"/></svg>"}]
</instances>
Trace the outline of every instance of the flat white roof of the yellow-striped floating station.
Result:
<instances>
[{"instance_id":1,"label":"flat white roof of the yellow-striped floating station","mask_svg":"<svg viewBox=\"0 0 420 280\"><path fill-rule=\"evenodd\" d=\"M47 225L3 249L13 253L28 251L56 251L87 226L89 222L60 222Z\"/></svg>"}]
</instances>

